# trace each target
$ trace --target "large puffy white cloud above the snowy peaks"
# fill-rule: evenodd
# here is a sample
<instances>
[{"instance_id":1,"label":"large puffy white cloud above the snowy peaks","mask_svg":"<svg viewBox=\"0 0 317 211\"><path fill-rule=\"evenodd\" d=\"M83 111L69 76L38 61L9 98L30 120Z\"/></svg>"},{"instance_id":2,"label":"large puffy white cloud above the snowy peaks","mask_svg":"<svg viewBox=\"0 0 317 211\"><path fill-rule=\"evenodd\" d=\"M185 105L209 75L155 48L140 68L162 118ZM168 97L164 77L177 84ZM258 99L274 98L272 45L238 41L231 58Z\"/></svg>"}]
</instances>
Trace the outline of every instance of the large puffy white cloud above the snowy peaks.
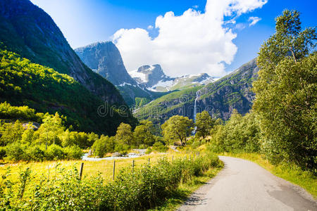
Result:
<instances>
[{"instance_id":1,"label":"large puffy white cloud above the snowy peaks","mask_svg":"<svg viewBox=\"0 0 317 211\"><path fill-rule=\"evenodd\" d=\"M155 38L135 28L118 30L113 41L128 71L159 63L170 76L206 72L220 77L225 75L224 63L230 64L237 52L232 42L237 34L224 26L224 16L236 17L263 4L266 1L208 0L204 13L189 8L180 16L168 12L157 17L159 35Z\"/></svg>"}]
</instances>

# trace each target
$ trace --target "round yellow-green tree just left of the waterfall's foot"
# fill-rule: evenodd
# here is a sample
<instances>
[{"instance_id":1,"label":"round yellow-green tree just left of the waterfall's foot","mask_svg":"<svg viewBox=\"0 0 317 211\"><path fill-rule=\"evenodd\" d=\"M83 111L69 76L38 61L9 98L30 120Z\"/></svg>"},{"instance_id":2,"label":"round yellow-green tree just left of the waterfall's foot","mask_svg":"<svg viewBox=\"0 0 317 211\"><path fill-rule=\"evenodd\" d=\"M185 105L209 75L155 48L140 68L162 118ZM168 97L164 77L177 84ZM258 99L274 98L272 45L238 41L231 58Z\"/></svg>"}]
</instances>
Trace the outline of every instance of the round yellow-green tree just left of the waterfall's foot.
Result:
<instances>
[{"instance_id":1,"label":"round yellow-green tree just left of the waterfall's foot","mask_svg":"<svg viewBox=\"0 0 317 211\"><path fill-rule=\"evenodd\" d=\"M170 117L164 124L162 124L163 136L166 141L178 140L184 145L187 136L193 130L194 122L188 117L175 115Z\"/></svg>"}]
</instances>

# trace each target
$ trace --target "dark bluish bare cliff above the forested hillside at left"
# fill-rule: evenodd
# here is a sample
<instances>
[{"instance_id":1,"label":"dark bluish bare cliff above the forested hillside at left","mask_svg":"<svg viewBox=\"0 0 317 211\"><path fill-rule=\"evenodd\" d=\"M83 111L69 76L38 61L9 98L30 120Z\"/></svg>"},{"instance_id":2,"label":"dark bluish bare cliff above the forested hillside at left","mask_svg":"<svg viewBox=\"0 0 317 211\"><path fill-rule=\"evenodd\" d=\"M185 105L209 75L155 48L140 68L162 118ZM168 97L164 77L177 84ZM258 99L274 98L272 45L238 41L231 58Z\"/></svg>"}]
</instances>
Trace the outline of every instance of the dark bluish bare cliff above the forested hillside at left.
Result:
<instances>
[{"instance_id":1,"label":"dark bluish bare cliff above the forested hillside at left","mask_svg":"<svg viewBox=\"0 0 317 211\"><path fill-rule=\"evenodd\" d=\"M70 75L103 101L124 104L116 87L87 68L54 20L30 1L0 1L0 41L9 51Z\"/></svg>"}]
</instances>

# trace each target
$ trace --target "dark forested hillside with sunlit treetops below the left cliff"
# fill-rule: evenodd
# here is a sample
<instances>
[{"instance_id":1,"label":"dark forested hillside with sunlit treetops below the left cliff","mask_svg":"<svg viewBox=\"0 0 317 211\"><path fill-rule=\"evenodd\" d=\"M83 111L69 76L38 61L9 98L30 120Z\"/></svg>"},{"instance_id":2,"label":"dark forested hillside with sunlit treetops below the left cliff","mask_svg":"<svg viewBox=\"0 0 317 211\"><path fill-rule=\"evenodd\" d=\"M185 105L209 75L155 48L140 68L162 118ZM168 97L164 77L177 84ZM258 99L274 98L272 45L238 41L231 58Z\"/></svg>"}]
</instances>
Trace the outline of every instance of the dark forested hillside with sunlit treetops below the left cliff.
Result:
<instances>
[{"instance_id":1,"label":"dark forested hillside with sunlit treetops below the left cliff","mask_svg":"<svg viewBox=\"0 0 317 211\"><path fill-rule=\"evenodd\" d=\"M136 120L129 110L117 109L98 115L104 103L72 77L31 63L10 51L0 51L0 101L13 106L29 106L37 112L65 115L66 125L85 132L113 135L120 122ZM108 108L111 105L107 105Z\"/></svg>"}]
</instances>

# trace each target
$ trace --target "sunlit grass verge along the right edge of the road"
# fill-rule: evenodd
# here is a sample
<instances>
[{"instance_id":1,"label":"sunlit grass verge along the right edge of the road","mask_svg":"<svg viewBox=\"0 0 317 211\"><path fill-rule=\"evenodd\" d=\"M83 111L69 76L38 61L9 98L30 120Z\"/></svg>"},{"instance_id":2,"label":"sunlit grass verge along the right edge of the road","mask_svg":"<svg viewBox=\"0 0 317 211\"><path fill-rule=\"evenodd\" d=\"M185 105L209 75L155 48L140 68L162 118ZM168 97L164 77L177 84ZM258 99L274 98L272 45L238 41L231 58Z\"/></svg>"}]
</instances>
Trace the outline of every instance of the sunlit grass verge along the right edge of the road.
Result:
<instances>
[{"instance_id":1,"label":"sunlit grass verge along the right edge of the road","mask_svg":"<svg viewBox=\"0 0 317 211\"><path fill-rule=\"evenodd\" d=\"M313 198L317 198L317 177L312 172L303 171L296 165L283 163L281 165L272 165L268 160L263 158L262 155L257 153L224 153L223 155L235 158L242 158L250 160L268 170L272 174L287 181L301 186L306 191L311 193Z\"/></svg>"}]
</instances>

